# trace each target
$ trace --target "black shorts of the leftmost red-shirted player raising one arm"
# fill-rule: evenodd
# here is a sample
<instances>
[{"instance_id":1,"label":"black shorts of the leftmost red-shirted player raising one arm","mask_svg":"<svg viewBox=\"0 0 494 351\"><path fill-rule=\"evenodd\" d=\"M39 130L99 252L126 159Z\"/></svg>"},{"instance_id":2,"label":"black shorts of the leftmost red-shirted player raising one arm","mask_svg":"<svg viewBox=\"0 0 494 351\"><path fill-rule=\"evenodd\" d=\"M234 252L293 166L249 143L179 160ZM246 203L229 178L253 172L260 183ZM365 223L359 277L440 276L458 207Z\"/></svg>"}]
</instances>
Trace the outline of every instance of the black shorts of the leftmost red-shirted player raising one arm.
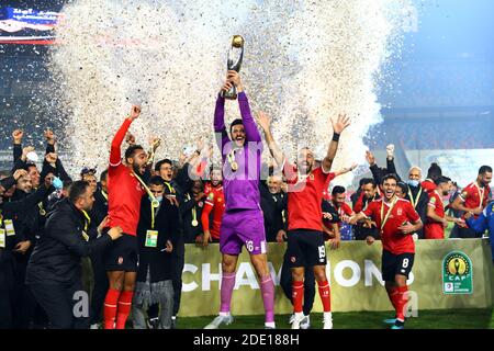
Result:
<instances>
[{"instance_id":1,"label":"black shorts of the leftmost red-shirted player raising one arm","mask_svg":"<svg viewBox=\"0 0 494 351\"><path fill-rule=\"evenodd\" d=\"M136 236L123 234L122 237L112 241L104 250L104 268L106 272L137 272L137 250Z\"/></svg>"}]
</instances>

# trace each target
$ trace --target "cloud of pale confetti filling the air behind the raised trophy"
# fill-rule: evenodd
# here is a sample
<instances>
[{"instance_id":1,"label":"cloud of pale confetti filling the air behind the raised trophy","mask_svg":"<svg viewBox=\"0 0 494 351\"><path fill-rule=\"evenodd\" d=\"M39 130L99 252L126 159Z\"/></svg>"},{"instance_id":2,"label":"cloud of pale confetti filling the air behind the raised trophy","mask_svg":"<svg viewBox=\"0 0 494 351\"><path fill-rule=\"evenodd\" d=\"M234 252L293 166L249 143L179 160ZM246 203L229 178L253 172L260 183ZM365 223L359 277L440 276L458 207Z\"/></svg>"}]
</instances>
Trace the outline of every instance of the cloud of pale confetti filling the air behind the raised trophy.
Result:
<instances>
[{"instance_id":1,"label":"cloud of pale confetti filling the air behind the raised trophy","mask_svg":"<svg viewBox=\"0 0 494 351\"><path fill-rule=\"evenodd\" d=\"M164 140L158 159L178 159L199 138L212 143L234 34L246 39L240 75L252 112L272 116L289 158L303 146L323 158L330 116L345 112L352 125L334 168L362 162L362 139L381 121L381 69L400 52L413 13L404 7L411 1L71 1L47 64L54 103L68 112L70 166L105 168L111 139L134 103L143 111L132 132L143 144L149 135ZM228 102L227 122L238 115L238 104ZM350 181L351 174L341 180Z\"/></svg>"}]
</instances>

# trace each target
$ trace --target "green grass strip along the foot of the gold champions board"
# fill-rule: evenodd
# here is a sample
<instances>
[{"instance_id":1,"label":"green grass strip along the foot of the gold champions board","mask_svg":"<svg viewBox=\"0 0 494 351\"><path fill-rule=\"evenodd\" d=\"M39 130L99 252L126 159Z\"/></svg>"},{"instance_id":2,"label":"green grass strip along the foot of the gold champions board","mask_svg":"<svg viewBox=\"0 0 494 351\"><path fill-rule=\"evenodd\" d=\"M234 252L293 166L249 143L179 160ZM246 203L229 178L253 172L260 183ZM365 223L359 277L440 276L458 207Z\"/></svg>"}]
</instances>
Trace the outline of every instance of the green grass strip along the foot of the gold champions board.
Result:
<instances>
[{"instance_id":1,"label":"green grass strip along the foot of the gold champions board","mask_svg":"<svg viewBox=\"0 0 494 351\"><path fill-rule=\"evenodd\" d=\"M177 328L202 329L215 316L179 317ZM235 317L235 316L234 316ZM289 315L276 316L278 329L289 329ZM386 329L383 319L392 318L390 312L334 313L335 329ZM311 315L311 328L323 328L323 315ZM262 329L263 316L238 316L224 329ZM223 328L222 328L223 329ZM417 318L406 321L406 329L494 329L493 309L439 309L418 312Z\"/></svg>"}]
</instances>

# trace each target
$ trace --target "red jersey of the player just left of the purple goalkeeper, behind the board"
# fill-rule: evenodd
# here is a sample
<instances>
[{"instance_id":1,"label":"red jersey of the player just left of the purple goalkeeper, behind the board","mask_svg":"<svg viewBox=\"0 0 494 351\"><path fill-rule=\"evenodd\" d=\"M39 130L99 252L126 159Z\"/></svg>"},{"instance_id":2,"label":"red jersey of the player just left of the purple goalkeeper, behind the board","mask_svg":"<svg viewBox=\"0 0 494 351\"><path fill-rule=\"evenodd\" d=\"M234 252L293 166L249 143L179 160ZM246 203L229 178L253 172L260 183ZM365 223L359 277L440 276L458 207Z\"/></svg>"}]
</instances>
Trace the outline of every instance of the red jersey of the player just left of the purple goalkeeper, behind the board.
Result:
<instances>
[{"instance_id":1,"label":"red jersey of the player just left of the purple goalkeeper, behind the board","mask_svg":"<svg viewBox=\"0 0 494 351\"><path fill-rule=\"evenodd\" d=\"M202 210L201 223L204 231L210 230L213 239L220 239L220 227L225 212L225 195L223 186L209 185L205 188L206 201ZM210 214L213 212L213 223L210 228Z\"/></svg>"}]
</instances>

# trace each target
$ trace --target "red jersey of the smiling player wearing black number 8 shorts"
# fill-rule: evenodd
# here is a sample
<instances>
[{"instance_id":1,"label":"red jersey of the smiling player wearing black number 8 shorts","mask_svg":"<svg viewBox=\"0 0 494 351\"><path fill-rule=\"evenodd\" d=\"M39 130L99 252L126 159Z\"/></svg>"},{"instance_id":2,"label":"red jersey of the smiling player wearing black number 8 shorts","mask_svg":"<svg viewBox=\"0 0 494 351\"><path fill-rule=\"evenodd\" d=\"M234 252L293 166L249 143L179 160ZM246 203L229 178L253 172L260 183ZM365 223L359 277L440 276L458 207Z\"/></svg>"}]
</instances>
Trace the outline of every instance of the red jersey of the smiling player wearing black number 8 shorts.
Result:
<instances>
[{"instance_id":1,"label":"red jersey of the smiling player wearing black number 8 shorts","mask_svg":"<svg viewBox=\"0 0 494 351\"><path fill-rule=\"evenodd\" d=\"M420 219L409 201L397 199L395 205L390 212L391 204L383 199L373 201L362 213L375 222L381 229L381 240L384 250L393 254L415 253L415 244L412 235L403 234L398 227L405 222L417 222ZM382 223L384 222L384 227Z\"/></svg>"}]
</instances>

